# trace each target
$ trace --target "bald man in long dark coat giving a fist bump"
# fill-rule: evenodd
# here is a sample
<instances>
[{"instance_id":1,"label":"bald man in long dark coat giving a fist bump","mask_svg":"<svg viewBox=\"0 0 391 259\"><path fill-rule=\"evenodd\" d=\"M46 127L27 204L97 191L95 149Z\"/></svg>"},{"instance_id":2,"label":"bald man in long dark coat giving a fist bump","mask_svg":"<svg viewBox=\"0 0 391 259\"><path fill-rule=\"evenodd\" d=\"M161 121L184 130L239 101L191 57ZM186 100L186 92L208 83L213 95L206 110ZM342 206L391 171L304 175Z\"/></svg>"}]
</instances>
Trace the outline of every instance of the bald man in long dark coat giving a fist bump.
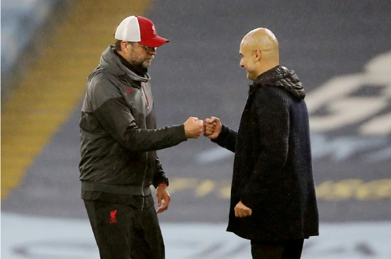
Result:
<instances>
[{"instance_id":1,"label":"bald man in long dark coat giving a fist bump","mask_svg":"<svg viewBox=\"0 0 391 259\"><path fill-rule=\"evenodd\" d=\"M318 235L305 91L279 65L279 43L265 28L240 44L240 66L253 83L238 132L207 118L204 135L235 153L227 231L251 240L253 259L300 259Z\"/></svg>"}]
</instances>

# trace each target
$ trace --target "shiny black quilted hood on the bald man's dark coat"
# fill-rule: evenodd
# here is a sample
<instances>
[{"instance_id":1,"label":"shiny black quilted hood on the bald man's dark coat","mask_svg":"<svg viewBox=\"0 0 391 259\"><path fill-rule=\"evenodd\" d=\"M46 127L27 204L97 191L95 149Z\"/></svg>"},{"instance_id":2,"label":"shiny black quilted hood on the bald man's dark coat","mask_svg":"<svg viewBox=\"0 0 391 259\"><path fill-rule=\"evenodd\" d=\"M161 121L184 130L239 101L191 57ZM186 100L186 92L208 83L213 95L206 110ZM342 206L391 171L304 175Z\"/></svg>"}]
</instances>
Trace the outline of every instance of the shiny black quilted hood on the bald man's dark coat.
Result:
<instances>
[{"instance_id":1,"label":"shiny black quilted hood on the bald man's dark coat","mask_svg":"<svg viewBox=\"0 0 391 259\"><path fill-rule=\"evenodd\" d=\"M284 66L276 66L259 75L250 86L250 92L257 86L271 85L278 86L290 92L297 99L304 99L306 92L302 82L295 74L295 71L288 70Z\"/></svg>"}]
</instances>

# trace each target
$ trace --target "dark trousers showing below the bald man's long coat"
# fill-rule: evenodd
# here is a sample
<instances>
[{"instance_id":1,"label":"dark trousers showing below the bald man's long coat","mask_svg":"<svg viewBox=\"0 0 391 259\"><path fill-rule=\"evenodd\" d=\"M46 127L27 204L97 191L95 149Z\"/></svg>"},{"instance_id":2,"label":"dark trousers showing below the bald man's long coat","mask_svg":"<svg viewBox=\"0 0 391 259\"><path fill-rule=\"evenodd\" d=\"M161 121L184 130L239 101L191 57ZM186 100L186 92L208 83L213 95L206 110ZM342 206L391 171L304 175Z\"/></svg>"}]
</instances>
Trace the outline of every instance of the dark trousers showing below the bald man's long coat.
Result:
<instances>
[{"instance_id":1,"label":"dark trousers showing below the bald man's long coat","mask_svg":"<svg viewBox=\"0 0 391 259\"><path fill-rule=\"evenodd\" d=\"M252 259L300 259L304 239L265 242L251 240Z\"/></svg>"}]
</instances>

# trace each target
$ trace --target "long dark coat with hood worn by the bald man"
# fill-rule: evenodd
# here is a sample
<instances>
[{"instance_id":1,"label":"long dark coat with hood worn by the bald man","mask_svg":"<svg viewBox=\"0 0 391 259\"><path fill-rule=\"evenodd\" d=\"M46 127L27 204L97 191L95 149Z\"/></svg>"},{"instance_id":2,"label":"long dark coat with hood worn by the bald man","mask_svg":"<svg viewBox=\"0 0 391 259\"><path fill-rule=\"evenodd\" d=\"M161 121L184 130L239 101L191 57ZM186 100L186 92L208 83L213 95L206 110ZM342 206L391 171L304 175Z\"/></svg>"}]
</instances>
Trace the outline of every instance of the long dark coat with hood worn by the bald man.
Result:
<instances>
[{"instance_id":1,"label":"long dark coat with hood worn by the bald man","mask_svg":"<svg viewBox=\"0 0 391 259\"><path fill-rule=\"evenodd\" d=\"M235 152L227 231L265 241L319 234L304 96L294 71L272 68L250 86L238 132L223 126L213 140ZM235 217L239 201L250 217Z\"/></svg>"}]
</instances>

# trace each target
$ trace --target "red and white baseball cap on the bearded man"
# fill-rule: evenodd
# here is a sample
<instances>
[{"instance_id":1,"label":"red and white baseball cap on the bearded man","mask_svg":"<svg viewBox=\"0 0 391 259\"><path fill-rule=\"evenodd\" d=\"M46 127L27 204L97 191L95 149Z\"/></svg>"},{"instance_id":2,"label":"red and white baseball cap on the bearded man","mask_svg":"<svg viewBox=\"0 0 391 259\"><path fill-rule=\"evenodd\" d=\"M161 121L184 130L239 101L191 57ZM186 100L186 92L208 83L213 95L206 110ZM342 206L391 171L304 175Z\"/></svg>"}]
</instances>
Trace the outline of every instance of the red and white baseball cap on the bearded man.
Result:
<instances>
[{"instance_id":1,"label":"red and white baseball cap on the bearded man","mask_svg":"<svg viewBox=\"0 0 391 259\"><path fill-rule=\"evenodd\" d=\"M126 17L118 25L114 37L117 40L139 42L152 48L160 47L169 41L158 36L151 20L137 15Z\"/></svg>"}]
</instances>

